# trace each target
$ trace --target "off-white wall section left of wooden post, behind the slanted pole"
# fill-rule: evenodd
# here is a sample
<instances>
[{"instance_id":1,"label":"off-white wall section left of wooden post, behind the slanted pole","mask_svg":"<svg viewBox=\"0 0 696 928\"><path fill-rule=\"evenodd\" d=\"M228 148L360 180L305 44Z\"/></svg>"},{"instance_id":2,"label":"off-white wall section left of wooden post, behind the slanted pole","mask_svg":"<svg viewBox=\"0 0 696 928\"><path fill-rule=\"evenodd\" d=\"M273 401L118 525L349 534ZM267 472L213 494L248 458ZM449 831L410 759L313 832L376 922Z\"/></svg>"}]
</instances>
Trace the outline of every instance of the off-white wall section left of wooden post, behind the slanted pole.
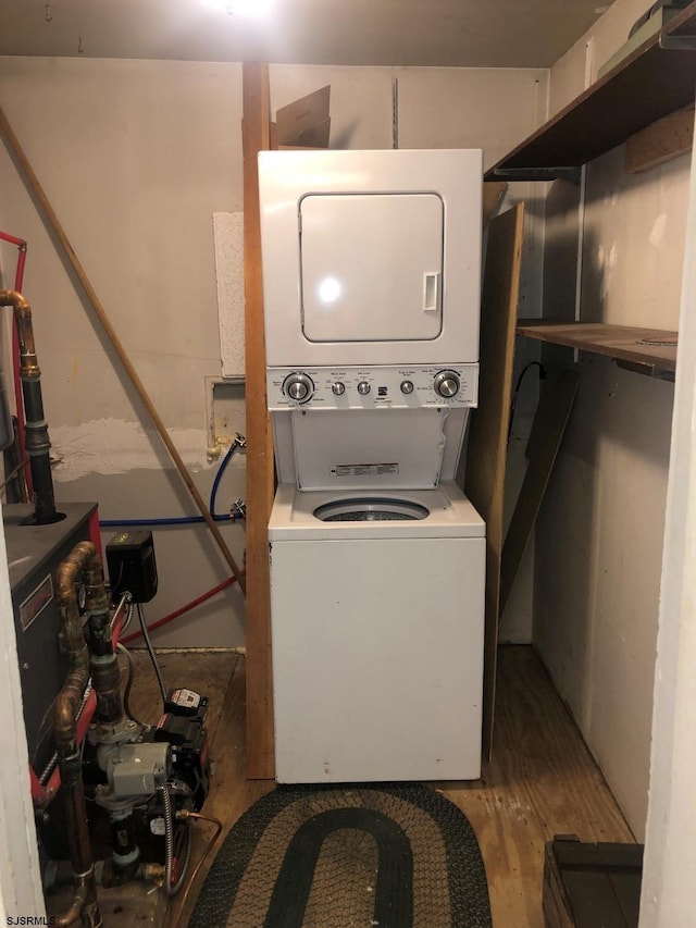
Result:
<instances>
[{"instance_id":1,"label":"off-white wall section left of wooden post, behind the slanted pole","mask_svg":"<svg viewBox=\"0 0 696 928\"><path fill-rule=\"evenodd\" d=\"M0 75L5 114L207 497L204 376L220 372L212 213L241 209L240 67L16 58L0 60ZM60 458L57 498L97 499L103 518L196 515L4 146L0 176L0 224L29 243L25 294ZM11 283L14 258L4 263ZM244 495L244 483L235 462L220 504ZM225 535L241 560L244 529ZM154 541L160 592L149 618L227 576L206 532L161 530ZM199 610L188 631L158 643L240 643L239 593L212 603L214 619Z\"/></svg>"}]
</instances>

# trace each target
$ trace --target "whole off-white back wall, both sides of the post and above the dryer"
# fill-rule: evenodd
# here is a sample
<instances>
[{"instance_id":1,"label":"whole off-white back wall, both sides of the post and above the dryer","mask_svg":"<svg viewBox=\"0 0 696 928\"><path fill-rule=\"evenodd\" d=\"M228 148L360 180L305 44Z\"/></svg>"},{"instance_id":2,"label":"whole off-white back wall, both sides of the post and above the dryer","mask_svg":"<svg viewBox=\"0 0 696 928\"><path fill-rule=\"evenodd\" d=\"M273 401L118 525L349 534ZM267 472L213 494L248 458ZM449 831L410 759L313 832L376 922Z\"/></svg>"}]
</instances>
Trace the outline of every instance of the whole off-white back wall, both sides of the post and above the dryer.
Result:
<instances>
[{"instance_id":1,"label":"whole off-white back wall, both sides of the post and above the dryer","mask_svg":"<svg viewBox=\"0 0 696 928\"><path fill-rule=\"evenodd\" d=\"M544 119L547 71L271 69L272 109L332 85L336 147L391 147L399 79L400 147L485 149L494 163ZM210 379L221 374L212 215L241 201L241 66L95 59L0 59L0 103L154 406L208 498ZM103 519L197 510L91 307L0 146L0 227L29 244L25 295L35 314L59 503L97 500ZM521 185L511 197L535 195ZM531 211L532 214L534 210ZM531 223L524 299L540 306L540 224ZM3 286L16 256L1 250ZM244 404L219 417L244 432ZM245 495L233 458L217 508ZM226 564L201 527L154 529L160 589L149 622L222 582ZM104 543L114 530L103 532ZM243 525L224 525L244 557ZM531 608L527 609L531 614ZM156 632L157 645L244 643L236 589Z\"/></svg>"}]
</instances>

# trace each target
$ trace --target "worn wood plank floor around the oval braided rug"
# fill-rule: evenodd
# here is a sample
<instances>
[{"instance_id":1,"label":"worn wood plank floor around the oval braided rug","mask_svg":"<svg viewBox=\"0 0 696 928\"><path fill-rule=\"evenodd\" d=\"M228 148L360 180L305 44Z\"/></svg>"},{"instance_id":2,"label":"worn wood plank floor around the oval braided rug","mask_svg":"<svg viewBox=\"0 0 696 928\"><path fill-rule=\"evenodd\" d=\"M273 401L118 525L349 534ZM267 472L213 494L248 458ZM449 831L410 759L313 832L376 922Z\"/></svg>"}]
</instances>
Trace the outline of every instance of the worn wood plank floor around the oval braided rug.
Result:
<instances>
[{"instance_id":1,"label":"worn wood plank floor around the oval braided rug","mask_svg":"<svg viewBox=\"0 0 696 928\"><path fill-rule=\"evenodd\" d=\"M136 652L135 659L132 706L145 721L154 721L157 682L147 654ZM245 777L244 658L224 652L177 652L164 653L160 660L167 686L190 686L211 700L214 767L203 813L223 822L224 834L274 787ZM574 833L583 841L634 840L531 647L500 648L494 756L483 779L436 788L462 809L478 838L495 928L543 928L544 844L554 834ZM212 831L210 825L196 825L194 866ZM214 850L188 898L170 902L169 926L186 925ZM117 920L110 924L121 928Z\"/></svg>"}]
</instances>

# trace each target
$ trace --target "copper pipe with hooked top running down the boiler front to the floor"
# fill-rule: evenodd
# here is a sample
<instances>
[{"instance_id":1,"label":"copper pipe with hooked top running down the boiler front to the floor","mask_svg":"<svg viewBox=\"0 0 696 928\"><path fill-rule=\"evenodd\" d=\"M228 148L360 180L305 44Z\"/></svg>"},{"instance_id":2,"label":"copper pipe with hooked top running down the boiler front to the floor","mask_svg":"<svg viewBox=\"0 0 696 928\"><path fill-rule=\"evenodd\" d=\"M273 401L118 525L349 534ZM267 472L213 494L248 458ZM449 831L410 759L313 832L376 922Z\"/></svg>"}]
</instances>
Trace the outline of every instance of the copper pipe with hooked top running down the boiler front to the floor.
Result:
<instances>
[{"instance_id":1,"label":"copper pipe with hooked top running down the boiler front to the floor","mask_svg":"<svg viewBox=\"0 0 696 928\"><path fill-rule=\"evenodd\" d=\"M64 792L65 826L75 882L72 904L55 921L61 928L67 928L78 918L82 918L85 928L98 928L102 924L87 830L87 806L75 722L77 708L89 679L89 652L83 634L75 590L80 573L84 573L87 580L91 604L100 608L105 590L99 554L91 542L80 542L76 545L55 572L55 598L71 667L55 701L53 738ZM99 589L100 585L102 589Z\"/></svg>"}]
</instances>

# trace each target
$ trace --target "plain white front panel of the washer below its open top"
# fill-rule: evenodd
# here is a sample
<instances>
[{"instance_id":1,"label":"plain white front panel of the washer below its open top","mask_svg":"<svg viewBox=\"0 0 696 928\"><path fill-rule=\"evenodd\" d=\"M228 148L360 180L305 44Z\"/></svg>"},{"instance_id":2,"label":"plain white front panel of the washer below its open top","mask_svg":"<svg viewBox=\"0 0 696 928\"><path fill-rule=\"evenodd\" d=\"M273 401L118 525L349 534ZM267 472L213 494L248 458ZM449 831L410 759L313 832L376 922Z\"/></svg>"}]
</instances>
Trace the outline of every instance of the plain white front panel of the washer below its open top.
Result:
<instances>
[{"instance_id":1,"label":"plain white front panel of the washer below its open top","mask_svg":"<svg viewBox=\"0 0 696 928\"><path fill-rule=\"evenodd\" d=\"M481 775L484 539L271 545L282 783Z\"/></svg>"}]
</instances>

